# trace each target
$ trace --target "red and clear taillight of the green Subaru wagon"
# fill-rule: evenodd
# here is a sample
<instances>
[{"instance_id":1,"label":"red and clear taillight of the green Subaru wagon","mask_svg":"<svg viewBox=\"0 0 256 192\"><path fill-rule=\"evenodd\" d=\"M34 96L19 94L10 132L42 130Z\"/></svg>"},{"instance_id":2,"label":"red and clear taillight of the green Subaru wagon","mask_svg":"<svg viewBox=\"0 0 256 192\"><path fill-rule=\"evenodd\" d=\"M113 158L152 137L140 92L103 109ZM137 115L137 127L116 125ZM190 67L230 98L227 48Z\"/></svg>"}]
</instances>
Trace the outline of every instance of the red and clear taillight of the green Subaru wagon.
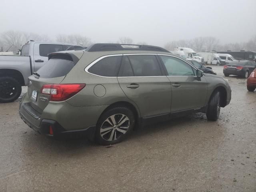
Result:
<instances>
[{"instance_id":1,"label":"red and clear taillight of the green Subaru wagon","mask_svg":"<svg viewBox=\"0 0 256 192\"><path fill-rule=\"evenodd\" d=\"M50 101L64 101L77 94L86 84L45 84L40 93L50 95Z\"/></svg>"}]
</instances>

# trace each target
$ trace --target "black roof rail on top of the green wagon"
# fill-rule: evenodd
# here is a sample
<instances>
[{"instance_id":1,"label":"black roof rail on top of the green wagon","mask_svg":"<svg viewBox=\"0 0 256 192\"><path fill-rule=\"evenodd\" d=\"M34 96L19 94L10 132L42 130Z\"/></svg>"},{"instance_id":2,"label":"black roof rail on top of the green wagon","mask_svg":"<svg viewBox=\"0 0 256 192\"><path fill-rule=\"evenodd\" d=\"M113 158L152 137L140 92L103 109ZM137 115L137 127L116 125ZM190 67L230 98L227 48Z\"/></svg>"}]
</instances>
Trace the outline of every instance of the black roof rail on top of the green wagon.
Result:
<instances>
[{"instance_id":1,"label":"black roof rail on top of the green wagon","mask_svg":"<svg viewBox=\"0 0 256 192\"><path fill-rule=\"evenodd\" d=\"M151 45L134 45L134 44L118 44L118 43L96 43L89 46L86 51L123 51L123 50L140 50L140 51L159 51L169 52L168 50Z\"/></svg>"}]
</instances>

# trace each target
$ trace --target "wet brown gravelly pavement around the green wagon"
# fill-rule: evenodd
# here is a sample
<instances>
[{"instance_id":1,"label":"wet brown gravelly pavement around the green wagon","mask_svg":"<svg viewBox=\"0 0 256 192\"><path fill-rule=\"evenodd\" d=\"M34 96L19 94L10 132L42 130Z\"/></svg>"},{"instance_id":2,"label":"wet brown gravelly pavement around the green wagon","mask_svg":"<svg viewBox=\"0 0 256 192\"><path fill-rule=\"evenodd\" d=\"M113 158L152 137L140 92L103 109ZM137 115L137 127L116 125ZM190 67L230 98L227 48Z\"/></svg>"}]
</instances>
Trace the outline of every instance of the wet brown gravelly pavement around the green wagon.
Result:
<instances>
[{"instance_id":1,"label":"wet brown gravelly pavement around the green wagon","mask_svg":"<svg viewBox=\"0 0 256 192\"><path fill-rule=\"evenodd\" d=\"M232 100L218 121L186 116L111 147L39 135L20 119L18 102L0 104L0 192L255 192L256 92L227 79Z\"/></svg>"}]
</instances>

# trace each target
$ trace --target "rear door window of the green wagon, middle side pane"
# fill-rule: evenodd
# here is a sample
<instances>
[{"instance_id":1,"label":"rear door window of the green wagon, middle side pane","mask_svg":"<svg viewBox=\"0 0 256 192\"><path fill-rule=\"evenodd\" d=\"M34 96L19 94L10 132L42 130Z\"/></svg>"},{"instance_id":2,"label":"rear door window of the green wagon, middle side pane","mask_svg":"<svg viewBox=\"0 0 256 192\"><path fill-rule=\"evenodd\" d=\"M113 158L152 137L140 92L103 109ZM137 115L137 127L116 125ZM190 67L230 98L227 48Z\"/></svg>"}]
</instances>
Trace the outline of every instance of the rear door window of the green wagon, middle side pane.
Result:
<instances>
[{"instance_id":1,"label":"rear door window of the green wagon, middle side pane","mask_svg":"<svg viewBox=\"0 0 256 192\"><path fill-rule=\"evenodd\" d=\"M162 76L160 66L155 55L128 56L134 76Z\"/></svg>"}]
</instances>

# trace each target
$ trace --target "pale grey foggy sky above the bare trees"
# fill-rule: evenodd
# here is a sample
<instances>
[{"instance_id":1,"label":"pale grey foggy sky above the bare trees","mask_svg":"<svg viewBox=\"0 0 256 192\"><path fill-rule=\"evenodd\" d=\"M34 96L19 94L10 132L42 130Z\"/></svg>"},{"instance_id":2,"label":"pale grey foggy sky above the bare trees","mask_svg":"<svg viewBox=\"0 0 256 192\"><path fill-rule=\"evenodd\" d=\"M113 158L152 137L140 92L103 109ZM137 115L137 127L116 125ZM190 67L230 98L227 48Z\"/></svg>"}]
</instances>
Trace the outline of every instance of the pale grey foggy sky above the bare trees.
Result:
<instances>
[{"instance_id":1,"label":"pale grey foggy sky above the bare trees","mask_svg":"<svg viewBox=\"0 0 256 192\"><path fill-rule=\"evenodd\" d=\"M6 30L92 42L127 36L158 46L198 36L245 42L256 35L256 0L0 0L0 33Z\"/></svg>"}]
</instances>

